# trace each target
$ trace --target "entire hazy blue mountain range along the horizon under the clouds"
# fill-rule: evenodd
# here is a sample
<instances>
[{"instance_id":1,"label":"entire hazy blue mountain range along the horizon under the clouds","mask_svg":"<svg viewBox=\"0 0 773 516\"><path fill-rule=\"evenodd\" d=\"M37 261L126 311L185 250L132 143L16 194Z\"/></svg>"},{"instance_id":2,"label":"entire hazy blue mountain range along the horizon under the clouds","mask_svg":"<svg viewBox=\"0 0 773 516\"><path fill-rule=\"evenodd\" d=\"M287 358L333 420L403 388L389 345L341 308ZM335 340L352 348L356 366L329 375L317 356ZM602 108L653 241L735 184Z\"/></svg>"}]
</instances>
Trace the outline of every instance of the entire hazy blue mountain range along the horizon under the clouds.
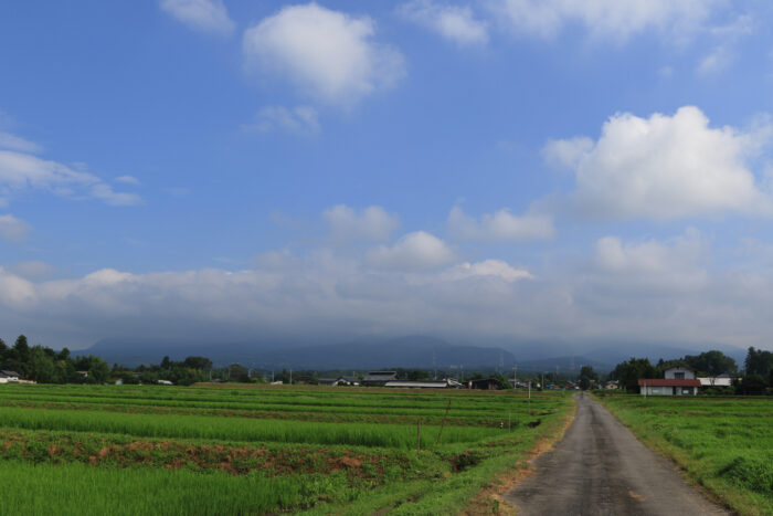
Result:
<instances>
[{"instance_id":1,"label":"entire hazy blue mountain range along the horizon under the clouds","mask_svg":"<svg viewBox=\"0 0 773 516\"><path fill-rule=\"evenodd\" d=\"M739 366L745 350L730 346L654 345L627 343L601 347L570 345L565 343L502 343L500 346L448 344L431 336L406 336L392 339L366 338L346 344L308 345L288 343L182 343L137 341L124 339L100 340L80 355L99 355L108 364L138 366L159 364L165 355L173 360L188 356L209 357L216 366L239 362L258 369L379 369L389 367L449 369L496 369L500 362L505 371L515 364L521 371L576 371L591 366L597 371L610 371L615 365L631 357L646 357L652 361L698 355L719 349L735 359Z\"/></svg>"}]
</instances>

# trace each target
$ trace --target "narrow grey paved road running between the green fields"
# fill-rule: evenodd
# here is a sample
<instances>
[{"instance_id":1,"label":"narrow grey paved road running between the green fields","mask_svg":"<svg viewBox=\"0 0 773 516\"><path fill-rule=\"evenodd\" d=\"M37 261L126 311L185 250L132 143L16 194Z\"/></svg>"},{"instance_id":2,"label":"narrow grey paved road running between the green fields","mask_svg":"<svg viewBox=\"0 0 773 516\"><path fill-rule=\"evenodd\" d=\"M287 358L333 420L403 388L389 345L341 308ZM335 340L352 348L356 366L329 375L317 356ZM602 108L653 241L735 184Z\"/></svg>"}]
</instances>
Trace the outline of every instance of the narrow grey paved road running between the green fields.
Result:
<instances>
[{"instance_id":1,"label":"narrow grey paved road running between the green fields","mask_svg":"<svg viewBox=\"0 0 773 516\"><path fill-rule=\"evenodd\" d=\"M585 393L564 438L534 465L536 474L505 495L519 516L729 514Z\"/></svg>"}]
</instances>

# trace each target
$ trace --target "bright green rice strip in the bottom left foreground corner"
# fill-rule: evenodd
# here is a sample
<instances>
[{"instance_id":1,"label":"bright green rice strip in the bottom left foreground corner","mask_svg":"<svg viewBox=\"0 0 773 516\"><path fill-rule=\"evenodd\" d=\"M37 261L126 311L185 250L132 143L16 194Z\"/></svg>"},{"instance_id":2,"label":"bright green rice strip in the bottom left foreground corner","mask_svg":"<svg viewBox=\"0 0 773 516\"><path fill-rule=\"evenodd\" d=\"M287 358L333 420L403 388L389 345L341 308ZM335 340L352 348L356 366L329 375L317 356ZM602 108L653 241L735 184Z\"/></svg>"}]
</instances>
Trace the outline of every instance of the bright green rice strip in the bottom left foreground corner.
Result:
<instances>
[{"instance_id":1,"label":"bright green rice strip in the bottom left foreground corner","mask_svg":"<svg viewBox=\"0 0 773 516\"><path fill-rule=\"evenodd\" d=\"M309 507L318 499L347 502L337 474L240 477L186 470L32 465L0 462L0 507L18 515L234 515Z\"/></svg>"}]
</instances>

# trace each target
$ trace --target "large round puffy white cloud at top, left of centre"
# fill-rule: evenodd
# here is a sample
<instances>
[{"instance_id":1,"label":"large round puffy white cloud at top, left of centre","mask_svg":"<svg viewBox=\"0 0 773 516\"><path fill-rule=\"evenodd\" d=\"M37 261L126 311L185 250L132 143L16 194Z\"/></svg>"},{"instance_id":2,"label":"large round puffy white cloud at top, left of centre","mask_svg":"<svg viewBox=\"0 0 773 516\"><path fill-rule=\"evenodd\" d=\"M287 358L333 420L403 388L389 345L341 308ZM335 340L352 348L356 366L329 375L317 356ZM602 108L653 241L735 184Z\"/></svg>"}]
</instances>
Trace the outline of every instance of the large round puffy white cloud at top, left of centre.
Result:
<instances>
[{"instance_id":1,"label":"large round puffy white cloud at top, left of centre","mask_svg":"<svg viewBox=\"0 0 773 516\"><path fill-rule=\"evenodd\" d=\"M351 105L405 73L400 52L373 42L374 33L369 17L292 6L244 32L244 55L247 66L276 73L308 96Z\"/></svg>"}]
</instances>

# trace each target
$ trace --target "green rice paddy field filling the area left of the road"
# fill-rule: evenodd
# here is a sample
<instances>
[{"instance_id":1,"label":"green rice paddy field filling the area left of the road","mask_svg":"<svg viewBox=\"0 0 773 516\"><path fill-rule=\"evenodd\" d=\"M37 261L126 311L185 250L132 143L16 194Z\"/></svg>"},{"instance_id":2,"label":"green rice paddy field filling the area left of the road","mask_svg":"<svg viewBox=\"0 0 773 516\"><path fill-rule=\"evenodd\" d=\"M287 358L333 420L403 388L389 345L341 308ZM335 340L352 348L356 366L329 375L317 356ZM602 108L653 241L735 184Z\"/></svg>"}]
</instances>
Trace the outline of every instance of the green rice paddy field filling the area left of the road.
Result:
<instances>
[{"instance_id":1,"label":"green rice paddy field filling the area left of the road","mask_svg":"<svg viewBox=\"0 0 773 516\"><path fill-rule=\"evenodd\" d=\"M490 514L560 392L0 386L10 514Z\"/></svg>"}]
</instances>

